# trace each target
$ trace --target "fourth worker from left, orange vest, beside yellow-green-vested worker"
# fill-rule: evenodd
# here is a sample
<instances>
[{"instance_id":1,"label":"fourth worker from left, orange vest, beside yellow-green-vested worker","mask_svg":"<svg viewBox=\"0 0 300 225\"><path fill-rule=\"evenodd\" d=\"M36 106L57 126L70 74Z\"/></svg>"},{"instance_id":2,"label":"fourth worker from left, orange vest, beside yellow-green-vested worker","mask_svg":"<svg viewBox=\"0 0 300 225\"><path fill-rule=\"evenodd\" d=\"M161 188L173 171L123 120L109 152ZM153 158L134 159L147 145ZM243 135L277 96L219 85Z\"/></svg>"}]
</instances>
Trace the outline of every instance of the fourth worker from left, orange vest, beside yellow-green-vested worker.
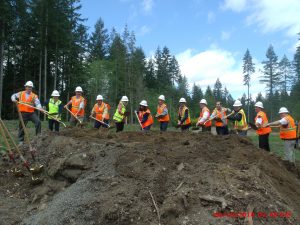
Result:
<instances>
[{"instance_id":1,"label":"fourth worker from left, orange vest, beside yellow-green-vested worker","mask_svg":"<svg viewBox=\"0 0 300 225\"><path fill-rule=\"evenodd\" d=\"M98 95L96 101L97 103L92 109L91 116L104 123L95 120L94 128L100 128L101 126L107 128L108 126L106 124L109 124L110 105L103 102L102 95Z\"/></svg>"}]
</instances>

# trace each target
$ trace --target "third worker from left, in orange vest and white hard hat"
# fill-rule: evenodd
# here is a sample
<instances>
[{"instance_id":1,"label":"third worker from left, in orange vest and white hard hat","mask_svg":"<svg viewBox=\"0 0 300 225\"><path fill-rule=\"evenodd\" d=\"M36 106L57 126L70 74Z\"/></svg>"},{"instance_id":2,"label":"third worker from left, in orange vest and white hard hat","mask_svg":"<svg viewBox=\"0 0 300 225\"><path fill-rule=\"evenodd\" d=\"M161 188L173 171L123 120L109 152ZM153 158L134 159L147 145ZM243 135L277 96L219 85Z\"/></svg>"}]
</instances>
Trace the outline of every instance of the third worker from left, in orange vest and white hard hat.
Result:
<instances>
[{"instance_id":1,"label":"third worker from left, in orange vest and white hard hat","mask_svg":"<svg viewBox=\"0 0 300 225\"><path fill-rule=\"evenodd\" d=\"M76 118L81 122L83 122L84 119L84 108L85 108L86 100L84 99L82 94L83 94L82 88L80 86L76 87L75 96L73 96L71 100L64 106L65 108L67 108L69 105L71 105L71 112L73 115L70 118L70 123L72 126L77 125L78 121L76 120Z\"/></svg>"}]
</instances>

